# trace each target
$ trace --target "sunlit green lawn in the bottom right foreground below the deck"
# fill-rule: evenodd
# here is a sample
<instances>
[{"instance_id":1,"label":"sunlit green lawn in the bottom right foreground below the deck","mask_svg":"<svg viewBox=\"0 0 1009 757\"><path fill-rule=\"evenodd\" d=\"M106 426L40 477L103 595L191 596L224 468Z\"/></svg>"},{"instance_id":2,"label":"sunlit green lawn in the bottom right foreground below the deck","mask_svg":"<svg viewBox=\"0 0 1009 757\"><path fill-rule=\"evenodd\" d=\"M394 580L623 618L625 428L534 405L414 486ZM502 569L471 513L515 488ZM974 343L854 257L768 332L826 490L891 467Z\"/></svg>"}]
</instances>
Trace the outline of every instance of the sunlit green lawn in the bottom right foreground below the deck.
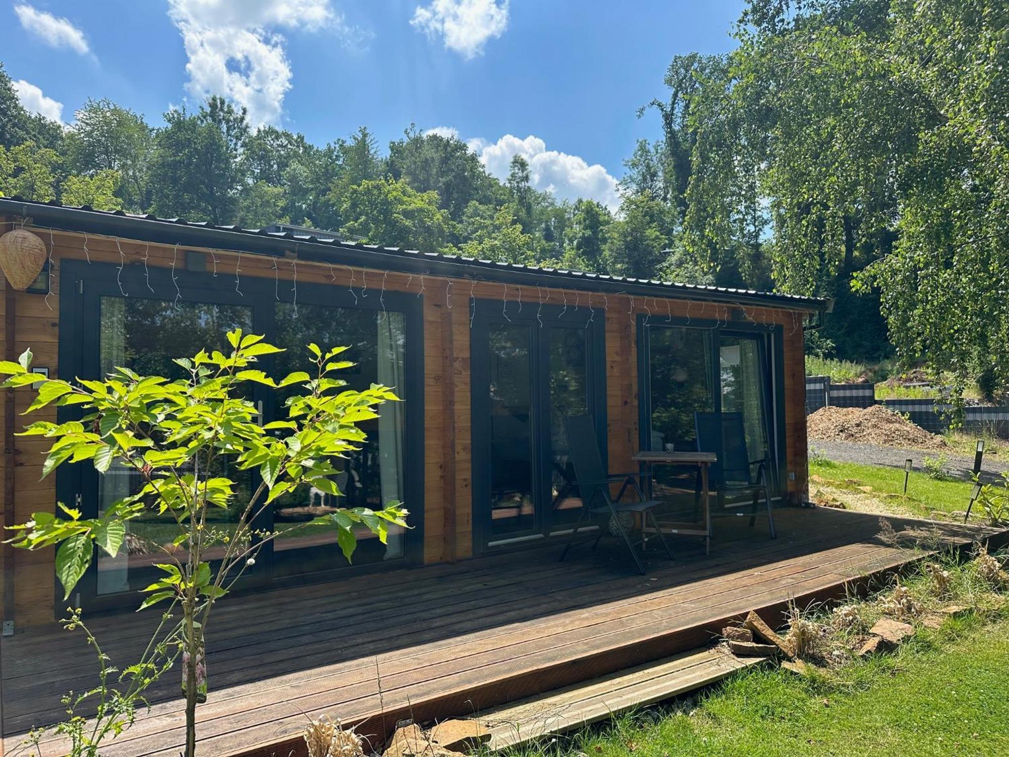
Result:
<instances>
[{"instance_id":1,"label":"sunlit green lawn in the bottom right foreground below the deck","mask_svg":"<svg viewBox=\"0 0 1009 757\"><path fill-rule=\"evenodd\" d=\"M1009 621L919 630L893 656L835 674L738 674L692 701L627 716L526 754L1009 754ZM522 752L520 752L522 753Z\"/></svg>"}]
</instances>

